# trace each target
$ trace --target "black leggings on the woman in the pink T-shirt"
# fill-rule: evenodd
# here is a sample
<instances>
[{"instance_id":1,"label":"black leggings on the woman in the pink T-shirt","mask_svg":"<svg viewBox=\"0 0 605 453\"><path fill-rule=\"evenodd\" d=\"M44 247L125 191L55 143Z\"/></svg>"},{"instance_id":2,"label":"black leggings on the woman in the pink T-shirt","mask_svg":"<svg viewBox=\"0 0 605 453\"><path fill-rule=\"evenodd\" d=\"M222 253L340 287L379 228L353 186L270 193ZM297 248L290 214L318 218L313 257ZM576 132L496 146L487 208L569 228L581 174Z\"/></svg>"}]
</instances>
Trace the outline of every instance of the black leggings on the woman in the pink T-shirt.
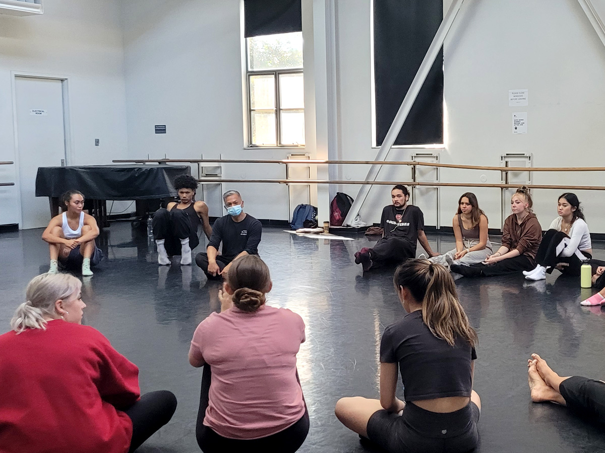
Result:
<instances>
[{"instance_id":1,"label":"black leggings on the woman in the pink T-shirt","mask_svg":"<svg viewBox=\"0 0 605 453\"><path fill-rule=\"evenodd\" d=\"M298 374L296 377L298 378ZM309 411L307 409L305 409L301 419L294 425L260 439L229 439L217 434L214 429L203 423L208 408L208 392L210 391L211 381L211 368L209 365L204 365L201 377L200 409L197 413L197 425L195 426L197 444L204 453L226 453L231 451L294 453L307 438L307 433L309 433Z\"/></svg>"}]
</instances>

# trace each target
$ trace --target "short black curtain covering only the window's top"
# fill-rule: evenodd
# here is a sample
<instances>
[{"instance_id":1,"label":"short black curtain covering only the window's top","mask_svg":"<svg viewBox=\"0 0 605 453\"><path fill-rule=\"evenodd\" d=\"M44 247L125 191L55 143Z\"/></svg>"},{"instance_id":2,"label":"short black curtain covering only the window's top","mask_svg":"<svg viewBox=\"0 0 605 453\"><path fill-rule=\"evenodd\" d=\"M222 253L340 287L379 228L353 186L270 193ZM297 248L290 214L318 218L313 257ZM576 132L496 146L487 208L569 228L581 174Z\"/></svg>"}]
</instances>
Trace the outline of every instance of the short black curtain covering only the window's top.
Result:
<instances>
[{"instance_id":1,"label":"short black curtain covering only the window's top","mask_svg":"<svg viewBox=\"0 0 605 453\"><path fill-rule=\"evenodd\" d=\"M244 37L302 31L301 0L244 0Z\"/></svg>"}]
</instances>

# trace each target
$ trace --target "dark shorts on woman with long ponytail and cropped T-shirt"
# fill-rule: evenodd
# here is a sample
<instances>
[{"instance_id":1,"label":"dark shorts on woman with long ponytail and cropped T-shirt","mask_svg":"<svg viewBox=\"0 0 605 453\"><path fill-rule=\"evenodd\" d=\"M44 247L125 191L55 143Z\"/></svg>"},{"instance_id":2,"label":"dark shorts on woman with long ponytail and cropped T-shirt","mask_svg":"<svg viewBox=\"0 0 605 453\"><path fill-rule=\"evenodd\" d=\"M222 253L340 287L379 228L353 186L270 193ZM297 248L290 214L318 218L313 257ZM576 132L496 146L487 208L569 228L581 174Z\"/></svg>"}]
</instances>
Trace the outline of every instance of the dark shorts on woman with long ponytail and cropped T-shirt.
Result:
<instances>
[{"instance_id":1,"label":"dark shorts on woman with long ponytail and cropped T-shirt","mask_svg":"<svg viewBox=\"0 0 605 453\"><path fill-rule=\"evenodd\" d=\"M478 421L479 408L472 401L445 414L408 402L401 417L385 410L373 413L367 433L371 442L390 453L463 453L477 446Z\"/></svg>"}]
</instances>

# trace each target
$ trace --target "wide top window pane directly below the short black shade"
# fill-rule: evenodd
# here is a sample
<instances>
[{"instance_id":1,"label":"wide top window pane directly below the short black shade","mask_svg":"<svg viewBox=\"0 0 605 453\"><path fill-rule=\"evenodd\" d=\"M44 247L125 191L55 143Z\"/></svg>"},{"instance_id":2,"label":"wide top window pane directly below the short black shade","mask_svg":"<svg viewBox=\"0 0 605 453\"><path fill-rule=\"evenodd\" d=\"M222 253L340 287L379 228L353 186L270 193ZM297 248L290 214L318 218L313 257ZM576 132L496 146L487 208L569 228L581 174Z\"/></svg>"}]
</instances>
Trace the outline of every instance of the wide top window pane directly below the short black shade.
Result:
<instances>
[{"instance_id":1,"label":"wide top window pane directly below the short black shade","mask_svg":"<svg viewBox=\"0 0 605 453\"><path fill-rule=\"evenodd\" d=\"M302 68L302 33L280 33L246 38L248 70Z\"/></svg>"}]
</instances>

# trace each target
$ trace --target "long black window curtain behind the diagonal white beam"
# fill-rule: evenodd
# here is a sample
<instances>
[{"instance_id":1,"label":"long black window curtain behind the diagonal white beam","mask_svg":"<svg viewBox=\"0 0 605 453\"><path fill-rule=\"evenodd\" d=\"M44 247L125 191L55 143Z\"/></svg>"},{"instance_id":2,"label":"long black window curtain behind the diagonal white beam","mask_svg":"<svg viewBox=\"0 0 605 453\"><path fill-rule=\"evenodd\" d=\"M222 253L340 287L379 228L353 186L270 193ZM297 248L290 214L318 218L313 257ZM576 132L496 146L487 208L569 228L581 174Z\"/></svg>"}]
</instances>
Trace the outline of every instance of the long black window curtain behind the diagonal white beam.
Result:
<instances>
[{"instance_id":1,"label":"long black window curtain behind the diagonal white beam","mask_svg":"<svg viewBox=\"0 0 605 453\"><path fill-rule=\"evenodd\" d=\"M443 0L374 0L376 144L380 146L443 20ZM443 143L443 48L397 145Z\"/></svg>"}]
</instances>

